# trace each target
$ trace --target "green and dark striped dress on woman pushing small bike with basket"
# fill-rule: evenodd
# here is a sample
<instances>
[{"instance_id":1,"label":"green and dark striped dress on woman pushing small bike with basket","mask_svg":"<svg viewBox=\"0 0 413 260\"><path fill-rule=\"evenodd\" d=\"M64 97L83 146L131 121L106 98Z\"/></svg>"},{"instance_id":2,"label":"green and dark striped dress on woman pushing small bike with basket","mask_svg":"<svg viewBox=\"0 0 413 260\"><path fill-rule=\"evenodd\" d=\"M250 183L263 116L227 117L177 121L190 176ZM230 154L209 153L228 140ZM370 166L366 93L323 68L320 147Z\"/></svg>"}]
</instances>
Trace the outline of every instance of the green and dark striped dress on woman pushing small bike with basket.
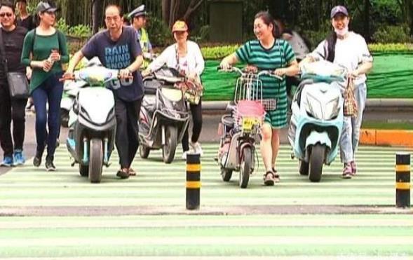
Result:
<instances>
[{"instance_id":1,"label":"green and dark striped dress on woman pushing small bike with basket","mask_svg":"<svg viewBox=\"0 0 413 260\"><path fill-rule=\"evenodd\" d=\"M259 70L275 70L287 67L295 60L294 52L287 41L277 39L274 45L266 49L258 40L248 41L236 50L236 57L241 62L257 67ZM285 79L279 81L270 76L261 76L264 99L276 99L276 110L266 111L264 121L272 128L284 128L287 125L287 90Z\"/></svg>"}]
</instances>

